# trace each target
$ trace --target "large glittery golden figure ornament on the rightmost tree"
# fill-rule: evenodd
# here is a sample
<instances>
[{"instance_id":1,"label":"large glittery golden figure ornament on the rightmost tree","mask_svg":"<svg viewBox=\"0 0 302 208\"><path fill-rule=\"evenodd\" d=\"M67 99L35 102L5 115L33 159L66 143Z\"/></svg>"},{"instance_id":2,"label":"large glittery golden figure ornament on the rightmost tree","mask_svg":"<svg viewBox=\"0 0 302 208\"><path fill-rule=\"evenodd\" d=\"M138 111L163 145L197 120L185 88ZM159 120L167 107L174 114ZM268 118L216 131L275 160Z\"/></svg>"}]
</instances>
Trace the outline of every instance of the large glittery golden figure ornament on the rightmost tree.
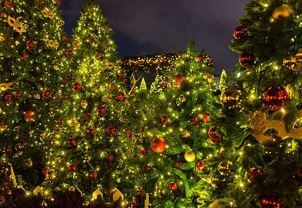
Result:
<instances>
[{"instance_id":1,"label":"large glittery golden figure ornament on the rightmost tree","mask_svg":"<svg viewBox=\"0 0 302 208\"><path fill-rule=\"evenodd\" d=\"M268 136L264 135L269 129L275 129L278 131L278 136L282 139L291 137L293 139L302 139L302 128L292 128L290 132L285 130L285 122L279 120L267 120L267 114L260 110L255 111L251 116L251 134L257 141L262 144L264 141L269 139ZM296 118L302 118L302 110L296 112Z\"/></svg>"}]
</instances>

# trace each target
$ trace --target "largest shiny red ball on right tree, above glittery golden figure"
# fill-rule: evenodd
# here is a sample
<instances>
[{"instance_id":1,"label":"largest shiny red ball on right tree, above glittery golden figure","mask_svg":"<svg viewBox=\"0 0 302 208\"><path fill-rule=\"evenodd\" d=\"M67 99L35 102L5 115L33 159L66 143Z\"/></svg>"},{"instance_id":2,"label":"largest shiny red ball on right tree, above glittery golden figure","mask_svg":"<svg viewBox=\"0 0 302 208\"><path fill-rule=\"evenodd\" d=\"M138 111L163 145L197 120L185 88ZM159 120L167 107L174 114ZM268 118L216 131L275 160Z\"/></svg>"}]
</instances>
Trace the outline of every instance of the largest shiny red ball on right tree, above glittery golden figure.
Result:
<instances>
[{"instance_id":1,"label":"largest shiny red ball on right tree, above glittery golden figure","mask_svg":"<svg viewBox=\"0 0 302 208\"><path fill-rule=\"evenodd\" d=\"M263 96L263 103L269 110L280 110L283 102L290 100L290 94L283 87L269 87Z\"/></svg>"}]
</instances>

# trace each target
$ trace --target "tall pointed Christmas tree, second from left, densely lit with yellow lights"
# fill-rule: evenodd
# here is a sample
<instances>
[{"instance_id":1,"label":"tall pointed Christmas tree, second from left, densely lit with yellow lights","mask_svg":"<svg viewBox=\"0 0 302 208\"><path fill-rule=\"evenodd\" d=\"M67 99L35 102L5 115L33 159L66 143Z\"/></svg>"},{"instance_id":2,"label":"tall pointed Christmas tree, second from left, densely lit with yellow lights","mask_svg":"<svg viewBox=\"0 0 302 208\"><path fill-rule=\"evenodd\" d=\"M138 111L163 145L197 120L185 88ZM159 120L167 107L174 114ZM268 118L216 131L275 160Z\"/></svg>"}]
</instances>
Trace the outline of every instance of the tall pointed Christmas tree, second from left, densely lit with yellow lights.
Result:
<instances>
[{"instance_id":1,"label":"tall pointed Christmas tree, second from left, densely lit with yellow lights","mask_svg":"<svg viewBox=\"0 0 302 208\"><path fill-rule=\"evenodd\" d=\"M46 132L51 157L44 175L49 190L78 190L89 200L99 189L112 202L112 194L125 193L130 180L124 161L129 134L125 114L131 108L131 93L124 91L117 46L110 39L113 31L99 7L94 1L83 6L85 12L70 40L66 61L72 71L63 80L68 87L53 109L53 126Z\"/></svg>"}]
</instances>

